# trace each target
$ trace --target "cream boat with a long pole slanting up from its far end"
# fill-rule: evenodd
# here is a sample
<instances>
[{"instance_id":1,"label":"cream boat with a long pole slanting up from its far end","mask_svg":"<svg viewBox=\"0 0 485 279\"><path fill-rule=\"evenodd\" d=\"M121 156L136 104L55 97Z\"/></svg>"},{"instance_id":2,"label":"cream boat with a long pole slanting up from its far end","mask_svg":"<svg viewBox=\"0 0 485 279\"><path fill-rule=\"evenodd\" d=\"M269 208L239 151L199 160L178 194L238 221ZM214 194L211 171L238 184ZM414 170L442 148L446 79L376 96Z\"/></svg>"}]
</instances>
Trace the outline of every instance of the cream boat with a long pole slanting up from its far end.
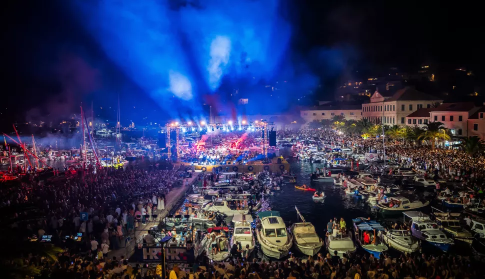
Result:
<instances>
[{"instance_id":1,"label":"cream boat with a long pole slanting up from its far end","mask_svg":"<svg viewBox=\"0 0 485 279\"><path fill-rule=\"evenodd\" d=\"M293 223L289 231L293 235L293 242L296 249L307 256L313 256L320 251L323 241L315 232L315 227L305 221L296 206L294 207L298 217L303 223Z\"/></svg>"}]
</instances>

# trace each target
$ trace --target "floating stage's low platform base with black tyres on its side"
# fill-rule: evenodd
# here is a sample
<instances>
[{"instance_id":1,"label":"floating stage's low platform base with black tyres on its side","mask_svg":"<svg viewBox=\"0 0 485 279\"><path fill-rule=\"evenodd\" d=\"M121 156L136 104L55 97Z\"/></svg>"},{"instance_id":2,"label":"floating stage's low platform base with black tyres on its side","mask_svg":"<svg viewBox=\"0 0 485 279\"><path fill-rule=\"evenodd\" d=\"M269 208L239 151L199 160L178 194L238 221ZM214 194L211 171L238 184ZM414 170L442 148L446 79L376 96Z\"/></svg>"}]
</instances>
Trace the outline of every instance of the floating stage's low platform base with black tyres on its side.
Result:
<instances>
[{"instance_id":1,"label":"floating stage's low platform base with black tyres on its side","mask_svg":"<svg viewBox=\"0 0 485 279\"><path fill-rule=\"evenodd\" d=\"M196 171L211 172L213 168L219 168L219 172L238 172L238 173L257 173L263 170L270 170L271 172L289 172L289 163L281 157L270 159L269 164L263 164L261 161L248 161L246 164L241 164L233 161L226 161L226 164L219 165L201 165L194 163L179 162L186 167L193 168ZM177 163L178 164L178 163Z\"/></svg>"}]
</instances>

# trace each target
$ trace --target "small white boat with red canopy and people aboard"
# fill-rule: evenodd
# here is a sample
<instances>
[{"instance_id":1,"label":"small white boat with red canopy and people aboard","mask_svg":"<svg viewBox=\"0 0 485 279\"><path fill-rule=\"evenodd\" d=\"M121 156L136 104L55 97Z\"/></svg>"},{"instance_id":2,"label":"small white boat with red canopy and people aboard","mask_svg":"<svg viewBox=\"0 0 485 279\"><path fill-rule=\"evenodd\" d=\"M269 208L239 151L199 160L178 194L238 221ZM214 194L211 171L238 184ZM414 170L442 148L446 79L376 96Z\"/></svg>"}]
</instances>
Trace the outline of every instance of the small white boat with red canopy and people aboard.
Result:
<instances>
[{"instance_id":1,"label":"small white boat with red canopy and people aboard","mask_svg":"<svg viewBox=\"0 0 485 279\"><path fill-rule=\"evenodd\" d=\"M225 234L228 233L227 227L215 227L207 229L207 241L205 245L205 256L214 262L223 262L230 257L229 242L225 238ZM219 234L220 233L220 234ZM215 235L217 247L212 249L212 235ZM215 250L217 249L217 250Z\"/></svg>"}]
</instances>

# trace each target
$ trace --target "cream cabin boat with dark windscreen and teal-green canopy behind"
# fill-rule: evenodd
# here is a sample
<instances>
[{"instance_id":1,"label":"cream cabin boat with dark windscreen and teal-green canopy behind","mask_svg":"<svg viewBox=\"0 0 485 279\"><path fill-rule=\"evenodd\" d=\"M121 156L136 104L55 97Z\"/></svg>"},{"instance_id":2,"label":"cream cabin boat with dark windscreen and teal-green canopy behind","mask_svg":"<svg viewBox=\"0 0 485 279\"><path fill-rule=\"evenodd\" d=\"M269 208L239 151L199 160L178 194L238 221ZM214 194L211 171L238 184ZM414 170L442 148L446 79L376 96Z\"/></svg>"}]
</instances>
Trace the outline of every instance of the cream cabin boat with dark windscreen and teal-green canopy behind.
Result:
<instances>
[{"instance_id":1,"label":"cream cabin boat with dark windscreen and teal-green canopy behind","mask_svg":"<svg viewBox=\"0 0 485 279\"><path fill-rule=\"evenodd\" d=\"M256 227L256 237L264 255L281 259L288 255L293 242L288 234L283 219L277 211L259 212L260 224Z\"/></svg>"}]
</instances>

